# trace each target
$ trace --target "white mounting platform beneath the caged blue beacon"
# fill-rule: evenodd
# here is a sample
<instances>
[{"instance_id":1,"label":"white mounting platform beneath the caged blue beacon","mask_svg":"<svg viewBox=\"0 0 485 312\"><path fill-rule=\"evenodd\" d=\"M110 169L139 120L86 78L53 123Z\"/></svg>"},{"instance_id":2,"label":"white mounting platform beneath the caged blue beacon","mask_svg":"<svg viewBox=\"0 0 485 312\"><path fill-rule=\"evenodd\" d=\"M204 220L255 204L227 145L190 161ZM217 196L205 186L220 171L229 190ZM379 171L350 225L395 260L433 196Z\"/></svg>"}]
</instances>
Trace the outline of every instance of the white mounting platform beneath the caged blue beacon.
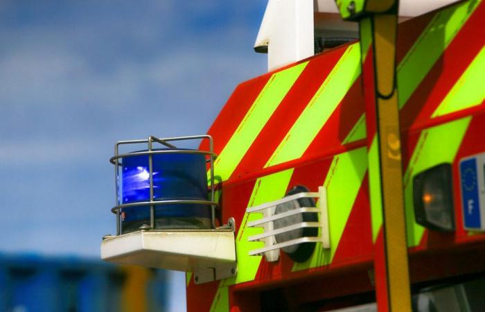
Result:
<instances>
[{"instance_id":1,"label":"white mounting platform beneath the caged blue beacon","mask_svg":"<svg viewBox=\"0 0 485 312\"><path fill-rule=\"evenodd\" d=\"M105 236L101 259L194 272L197 284L236 274L236 246L230 229L139 231Z\"/></svg>"}]
</instances>

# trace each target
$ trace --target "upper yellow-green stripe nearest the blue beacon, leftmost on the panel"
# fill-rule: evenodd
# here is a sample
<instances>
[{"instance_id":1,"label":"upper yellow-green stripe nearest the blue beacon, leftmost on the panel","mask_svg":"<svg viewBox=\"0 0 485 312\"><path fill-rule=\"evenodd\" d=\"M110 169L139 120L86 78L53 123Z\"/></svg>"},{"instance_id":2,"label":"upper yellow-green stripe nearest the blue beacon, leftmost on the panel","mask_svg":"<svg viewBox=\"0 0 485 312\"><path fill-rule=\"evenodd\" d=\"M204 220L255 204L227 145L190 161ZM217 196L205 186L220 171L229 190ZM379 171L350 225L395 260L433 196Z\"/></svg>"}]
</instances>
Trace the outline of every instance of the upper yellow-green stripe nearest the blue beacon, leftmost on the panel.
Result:
<instances>
[{"instance_id":1,"label":"upper yellow-green stripe nearest the blue beacon, leftmost on the panel","mask_svg":"<svg viewBox=\"0 0 485 312\"><path fill-rule=\"evenodd\" d=\"M249 146L254 142L261 129L270 119L276 107L291 89L294 82L305 69L308 62L274 73L246 113L243 121L233 133L231 139L215 159L215 176L227 180L243 159Z\"/></svg>"}]
</instances>

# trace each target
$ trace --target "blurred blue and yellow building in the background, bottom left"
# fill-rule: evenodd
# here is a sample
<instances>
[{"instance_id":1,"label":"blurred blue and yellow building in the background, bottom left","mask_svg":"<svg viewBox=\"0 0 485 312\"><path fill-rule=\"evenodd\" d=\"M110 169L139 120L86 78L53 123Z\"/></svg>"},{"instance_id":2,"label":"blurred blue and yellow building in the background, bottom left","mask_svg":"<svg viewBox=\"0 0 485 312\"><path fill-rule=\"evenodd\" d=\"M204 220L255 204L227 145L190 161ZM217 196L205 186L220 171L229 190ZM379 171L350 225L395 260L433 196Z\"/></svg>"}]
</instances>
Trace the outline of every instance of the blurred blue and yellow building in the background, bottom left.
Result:
<instances>
[{"instance_id":1,"label":"blurred blue and yellow building in the background, bottom left","mask_svg":"<svg viewBox=\"0 0 485 312\"><path fill-rule=\"evenodd\" d=\"M163 270L78 257L0 254L0 311L166 311Z\"/></svg>"}]
</instances>

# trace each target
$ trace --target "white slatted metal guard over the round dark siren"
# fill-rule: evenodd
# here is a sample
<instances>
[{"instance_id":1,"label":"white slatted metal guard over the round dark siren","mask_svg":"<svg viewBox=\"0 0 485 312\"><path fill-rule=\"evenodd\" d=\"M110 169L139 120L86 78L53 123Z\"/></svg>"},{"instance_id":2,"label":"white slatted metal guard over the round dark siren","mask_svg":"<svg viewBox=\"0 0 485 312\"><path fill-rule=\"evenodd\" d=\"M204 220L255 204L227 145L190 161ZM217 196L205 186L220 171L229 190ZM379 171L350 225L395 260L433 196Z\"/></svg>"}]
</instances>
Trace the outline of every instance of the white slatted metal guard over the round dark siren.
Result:
<instances>
[{"instance_id":1,"label":"white slatted metal guard over the round dark siren","mask_svg":"<svg viewBox=\"0 0 485 312\"><path fill-rule=\"evenodd\" d=\"M293 209L286 211L282 214L274 214L276 205L297 200L299 198L318 198L317 207L301 207L299 209ZM248 241L263 241L265 242L264 248L258 248L256 250L250 250L250 256L265 255L266 261L274 262L279 259L279 250L291 245L297 245L301 243L317 242L321 243L325 249L330 248L330 234L328 231L328 207L326 198L326 188L319 187L318 192L303 192L297 193L292 196L282 198L281 200L275 200L273 202L266 202L263 205L256 207L249 207L246 212L263 212L263 218L248 223L248 227L263 227L263 234L249 236ZM301 222L282 227L280 229L273 228L273 221L292 216L295 214L301 214L303 212L316 212L319 214L318 222ZM285 241L283 243L276 243L275 235L285 232L290 232L302 227L319 227L321 229L320 237L301 237L299 239L293 239L291 241Z\"/></svg>"}]
</instances>

